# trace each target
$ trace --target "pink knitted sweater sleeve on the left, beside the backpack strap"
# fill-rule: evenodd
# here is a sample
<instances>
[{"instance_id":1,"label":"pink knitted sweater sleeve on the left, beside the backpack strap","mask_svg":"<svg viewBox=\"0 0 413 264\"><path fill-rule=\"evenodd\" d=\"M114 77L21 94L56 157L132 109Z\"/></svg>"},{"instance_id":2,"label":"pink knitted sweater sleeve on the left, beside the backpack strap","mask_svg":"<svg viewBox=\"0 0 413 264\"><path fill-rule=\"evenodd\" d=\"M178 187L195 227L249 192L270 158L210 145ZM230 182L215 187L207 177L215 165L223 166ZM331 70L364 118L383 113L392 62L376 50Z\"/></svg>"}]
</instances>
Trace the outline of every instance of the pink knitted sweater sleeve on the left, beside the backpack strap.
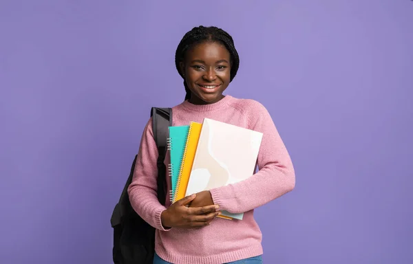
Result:
<instances>
[{"instance_id":1,"label":"pink knitted sweater sleeve on the left, beside the backpack strap","mask_svg":"<svg viewBox=\"0 0 413 264\"><path fill-rule=\"evenodd\" d=\"M165 230L160 214L166 210L156 195L158 178L158 148L153 138L152 119L145 126L136 159L134 176L128 188L132 208L142 219L159 230ZM167 229L169 230L169 229Z\"/></svg>"}]
</instances>

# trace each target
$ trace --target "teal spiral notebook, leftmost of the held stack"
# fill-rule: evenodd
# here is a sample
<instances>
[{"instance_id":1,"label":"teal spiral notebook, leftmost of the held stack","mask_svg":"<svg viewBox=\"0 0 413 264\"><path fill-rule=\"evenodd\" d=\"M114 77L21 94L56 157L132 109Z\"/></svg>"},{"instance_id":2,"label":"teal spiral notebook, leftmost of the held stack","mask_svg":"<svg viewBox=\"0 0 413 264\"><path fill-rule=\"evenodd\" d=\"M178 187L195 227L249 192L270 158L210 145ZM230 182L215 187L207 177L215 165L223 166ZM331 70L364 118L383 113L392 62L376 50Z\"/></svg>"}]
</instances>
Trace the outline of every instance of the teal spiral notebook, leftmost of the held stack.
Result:
<instances>
[{"instance_id":1,"label":"teal spiral notebook, leftmost of the held stack","mask_svg":"<svg viewBox=\"0 0 413 264\"><path fill-rule=\"evenodd\" d=\"M171 162L168 165L169 176L171 177L172 190L169 199L173 201L175 195L176 185L178 184L178 175L182 157L184 156L185 144L187 144L187 137L189 133L189 126L169 126L168 150L171 155Z\"/></svg>"}]
</instances>

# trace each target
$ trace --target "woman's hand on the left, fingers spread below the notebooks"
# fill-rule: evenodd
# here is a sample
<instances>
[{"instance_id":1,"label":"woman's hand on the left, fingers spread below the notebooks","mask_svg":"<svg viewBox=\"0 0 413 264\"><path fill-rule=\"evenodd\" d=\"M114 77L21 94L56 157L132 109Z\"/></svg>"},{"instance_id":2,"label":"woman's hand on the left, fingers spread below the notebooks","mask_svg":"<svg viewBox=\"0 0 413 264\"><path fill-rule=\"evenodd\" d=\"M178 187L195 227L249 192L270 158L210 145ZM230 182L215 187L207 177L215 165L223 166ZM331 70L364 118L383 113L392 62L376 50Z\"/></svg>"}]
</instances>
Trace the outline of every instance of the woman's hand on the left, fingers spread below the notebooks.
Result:
<instances>
[{"instance_id":1,"label":"woman's hand on the left, fingers spread below the notebooks","mask_svg":"<svg viewBox=\"0 0 413 264\"><path fill-rule=\"evenodd\" d=\"M187 196L172 203L160 214L164 228L201 228L209 225L220 214L218 206L215 205L188 208L186 205L195 199L195 196Z\"/></svg>"}]
</instances>

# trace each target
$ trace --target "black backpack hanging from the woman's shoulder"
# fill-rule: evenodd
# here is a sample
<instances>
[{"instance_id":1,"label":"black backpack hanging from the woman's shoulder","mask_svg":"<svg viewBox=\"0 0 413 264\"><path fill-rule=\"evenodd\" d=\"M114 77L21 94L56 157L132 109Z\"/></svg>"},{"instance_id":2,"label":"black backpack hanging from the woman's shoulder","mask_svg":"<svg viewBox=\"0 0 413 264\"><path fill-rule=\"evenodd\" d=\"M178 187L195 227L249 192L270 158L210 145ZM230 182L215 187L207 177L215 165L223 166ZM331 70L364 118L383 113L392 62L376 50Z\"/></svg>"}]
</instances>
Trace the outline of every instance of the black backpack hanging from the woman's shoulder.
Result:
<instances>
[{"instance_id":1,"label":"black backpack hanging from the woman's shoulder","mask_svg":"<svg viewBox=\"0 0 413 264\"><path fill-rule=\"evenodd\" d=\"M172 125L170 108L151 109L153 137L158 146L158 200L165 205L167 195L166 168L168 126ZM131 207L127 188L131 184L137 155L129 177L110 219L114 228L113 260L115 264L152 264L155 254L155 228L145 222Z\"/></svg>"}]
</instances>

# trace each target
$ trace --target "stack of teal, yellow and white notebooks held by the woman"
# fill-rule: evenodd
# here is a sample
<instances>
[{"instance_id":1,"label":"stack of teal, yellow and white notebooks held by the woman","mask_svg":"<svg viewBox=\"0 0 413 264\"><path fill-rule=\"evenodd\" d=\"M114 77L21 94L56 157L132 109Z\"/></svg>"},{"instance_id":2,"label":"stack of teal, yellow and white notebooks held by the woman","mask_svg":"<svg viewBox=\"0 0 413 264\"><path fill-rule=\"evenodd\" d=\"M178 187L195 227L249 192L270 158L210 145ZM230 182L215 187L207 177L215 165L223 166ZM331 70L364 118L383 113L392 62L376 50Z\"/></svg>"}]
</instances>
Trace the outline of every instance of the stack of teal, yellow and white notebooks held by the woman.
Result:
<instances>
[{"instance_id":1,"label":"stack of teal, yellow and white notebooks held by the woman","mask_svg":"<svg viewBox=\"0 0 413 264\"><path fill-rule=\"evenodd\" d=\"M211 190L251 177L262 133L204 118L189 126L169 126L172 203L202 190ZM244 216L222 211L223 219Z\"/></svg>"}]
</instances>

